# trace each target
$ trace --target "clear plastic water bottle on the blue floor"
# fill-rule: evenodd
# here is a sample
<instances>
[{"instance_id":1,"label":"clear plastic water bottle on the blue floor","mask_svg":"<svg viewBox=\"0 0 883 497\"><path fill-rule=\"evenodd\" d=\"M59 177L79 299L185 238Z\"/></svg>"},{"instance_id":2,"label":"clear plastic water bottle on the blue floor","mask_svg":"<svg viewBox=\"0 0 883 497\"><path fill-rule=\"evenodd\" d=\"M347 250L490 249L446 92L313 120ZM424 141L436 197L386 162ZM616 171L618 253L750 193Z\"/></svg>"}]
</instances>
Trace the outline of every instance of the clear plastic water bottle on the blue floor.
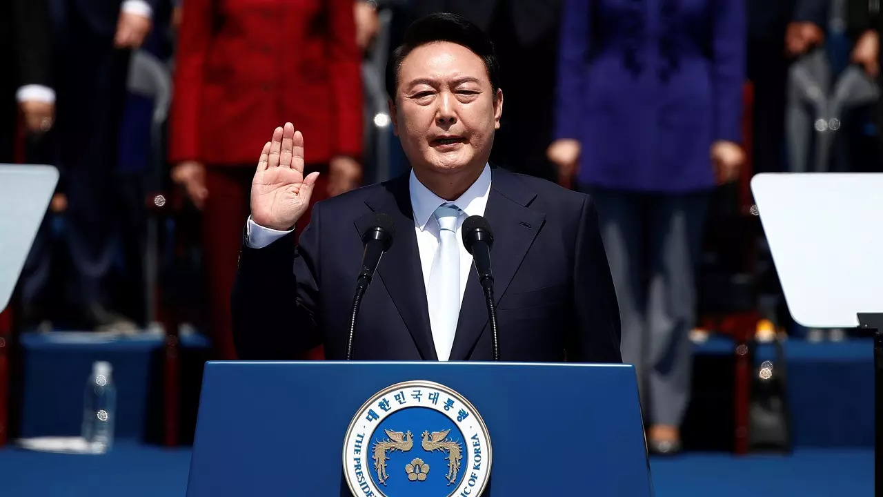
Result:
<instances>
[{"instance_id":1,"label":"clear plastic water bottle on the blue floor","mask_svg":"<svg viewBox=\"0 0 883 497\"><path fill-rule=\"evenodd\" d=\"M93 363L83 396L82 436L86 440L87 450L94 454L103 454L113 445L117 388L110 376L111 371L110 363Z\"/></svg>"}]
</instances>

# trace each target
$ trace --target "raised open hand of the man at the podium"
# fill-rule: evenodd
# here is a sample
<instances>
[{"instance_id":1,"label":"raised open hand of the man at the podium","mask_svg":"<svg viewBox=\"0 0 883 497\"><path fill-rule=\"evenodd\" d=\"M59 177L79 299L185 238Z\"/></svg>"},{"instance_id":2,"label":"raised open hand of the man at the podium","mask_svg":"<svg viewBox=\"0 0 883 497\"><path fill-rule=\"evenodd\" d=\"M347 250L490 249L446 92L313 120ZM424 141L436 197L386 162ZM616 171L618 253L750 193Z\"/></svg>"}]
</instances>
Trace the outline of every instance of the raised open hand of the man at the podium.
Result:
<instances>
[{"instance_id":1,"label":"raised open hand of the man at the podium","mask_svg":"<svg viewBox=\"0 0 883 497\"><path fill-rule=\"evenodd\" d=\"M267 228L288 231L310 205L319 172L304 177L304 135L285 123L260 151L252 180L252 220Z\"/></svg>"}]
</instances>

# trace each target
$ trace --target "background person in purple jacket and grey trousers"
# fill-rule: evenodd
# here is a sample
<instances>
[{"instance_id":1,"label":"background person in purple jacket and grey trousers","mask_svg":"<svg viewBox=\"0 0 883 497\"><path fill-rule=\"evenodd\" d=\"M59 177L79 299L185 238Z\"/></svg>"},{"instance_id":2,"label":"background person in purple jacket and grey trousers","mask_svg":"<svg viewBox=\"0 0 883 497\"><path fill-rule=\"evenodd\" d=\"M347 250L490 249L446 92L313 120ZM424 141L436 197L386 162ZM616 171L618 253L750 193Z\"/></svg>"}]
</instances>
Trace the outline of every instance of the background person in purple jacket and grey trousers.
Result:
<instances>
[{"instance_id":1,"label":"background person in purple jacket and grey trousers","mask_svg":"<svg viewBox=\"0 0 883 497\"><path fill-rule=\"evenodd\" d=\"M691 387L695 270L715 184L736 180L742 0L568 0L549 158L598 203L658 454L680 450Z\"/></svg>"}]
</instances>

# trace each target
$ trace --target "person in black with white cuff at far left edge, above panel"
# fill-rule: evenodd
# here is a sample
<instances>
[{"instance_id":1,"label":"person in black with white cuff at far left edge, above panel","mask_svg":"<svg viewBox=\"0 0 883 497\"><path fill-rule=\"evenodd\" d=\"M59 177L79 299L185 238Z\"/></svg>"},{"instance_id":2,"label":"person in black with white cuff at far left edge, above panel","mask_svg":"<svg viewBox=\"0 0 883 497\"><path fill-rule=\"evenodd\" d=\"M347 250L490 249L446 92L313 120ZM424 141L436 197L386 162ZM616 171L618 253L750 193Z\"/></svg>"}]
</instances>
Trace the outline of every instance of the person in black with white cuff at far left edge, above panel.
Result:
<instances>
[{"instance_id":1,"label":"person in black with white cuff at far left edge, above panel","mask_svg":"<svg viewBox=\"0 0 883 497\"><path fill-rule=\"evenodd\" d=\"M53 124L50 57L47 0L0 3L0 163L13 160L19 113L29 133L44 133Z\"/></svg>"}]
</instances>

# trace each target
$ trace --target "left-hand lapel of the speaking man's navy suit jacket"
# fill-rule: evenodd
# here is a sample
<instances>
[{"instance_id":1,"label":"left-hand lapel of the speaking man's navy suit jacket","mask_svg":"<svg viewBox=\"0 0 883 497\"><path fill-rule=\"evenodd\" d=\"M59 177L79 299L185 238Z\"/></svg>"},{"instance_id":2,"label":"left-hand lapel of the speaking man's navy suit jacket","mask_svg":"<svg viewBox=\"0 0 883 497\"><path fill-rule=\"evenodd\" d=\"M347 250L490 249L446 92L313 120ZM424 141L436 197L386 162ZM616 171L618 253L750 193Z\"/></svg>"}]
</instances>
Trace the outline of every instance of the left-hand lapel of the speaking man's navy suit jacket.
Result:
<instances>
[{"instance_id":1,"label":"left-hand lapel of the speaking man's navy suit jacket","mask_svg":"<svg viewBox=\"0 0 883 497\"><path fill-rule=\"evenodd\" d=\"M429 325L426 286L423 282L423 269L420 266L408 178L405 174L389 181L384 184L385 189L378 190L376 195L366 201L371 210L388 214L396 221L395 241L389 252L381 258L377 274L396 305L404 325L411 333L420 356L425 360L437 361L438 356L435 354ZM357 220L356 229L361 236L366 226L358 226L358 223ZM374 284L376 283L375 279Z\"/></svg>"}]
</instances>

